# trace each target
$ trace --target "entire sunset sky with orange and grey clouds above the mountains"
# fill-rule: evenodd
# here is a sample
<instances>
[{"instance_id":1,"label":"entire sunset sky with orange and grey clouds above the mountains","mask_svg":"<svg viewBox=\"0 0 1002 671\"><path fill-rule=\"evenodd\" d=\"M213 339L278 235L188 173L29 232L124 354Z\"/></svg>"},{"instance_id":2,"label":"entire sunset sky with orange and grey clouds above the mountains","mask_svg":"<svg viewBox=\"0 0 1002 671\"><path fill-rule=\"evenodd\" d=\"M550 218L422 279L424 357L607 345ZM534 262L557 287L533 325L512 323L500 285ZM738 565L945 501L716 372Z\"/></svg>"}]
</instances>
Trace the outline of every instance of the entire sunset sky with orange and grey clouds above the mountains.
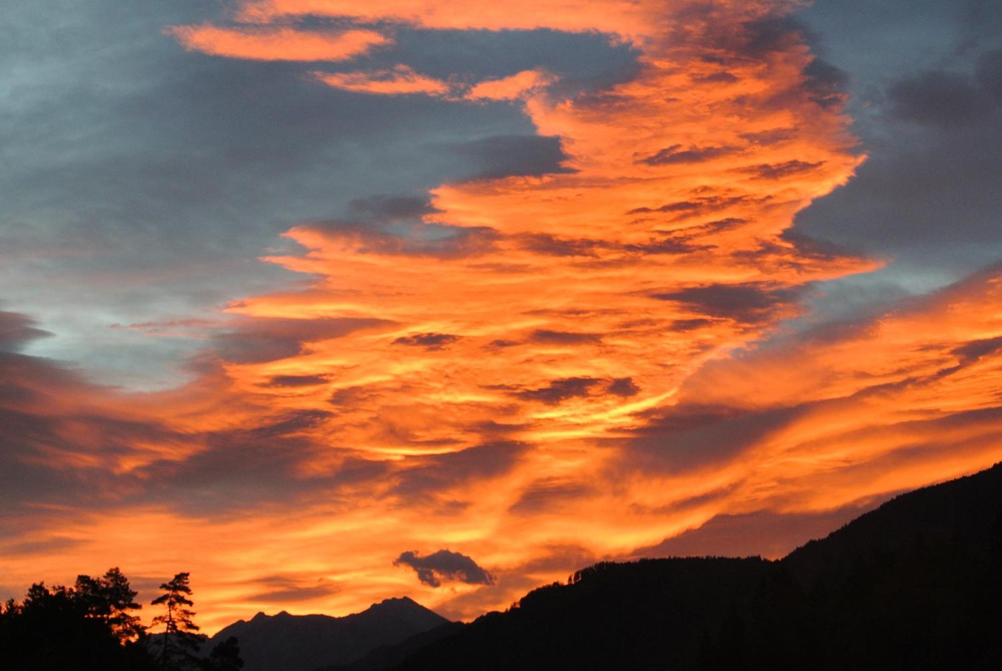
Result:
<instances>
[{"instance_id":1,"label":"entire sunset sky with orange and grey clouds above the mountains","mask_svg":"<svg viewBox=\"0 0 1002 671\"><path fill-rule=\"evenodd\" d=\"M521 5L12 0L0 597L471 619L1002 459L997 3Z\"/></svg>"}]
</instances>

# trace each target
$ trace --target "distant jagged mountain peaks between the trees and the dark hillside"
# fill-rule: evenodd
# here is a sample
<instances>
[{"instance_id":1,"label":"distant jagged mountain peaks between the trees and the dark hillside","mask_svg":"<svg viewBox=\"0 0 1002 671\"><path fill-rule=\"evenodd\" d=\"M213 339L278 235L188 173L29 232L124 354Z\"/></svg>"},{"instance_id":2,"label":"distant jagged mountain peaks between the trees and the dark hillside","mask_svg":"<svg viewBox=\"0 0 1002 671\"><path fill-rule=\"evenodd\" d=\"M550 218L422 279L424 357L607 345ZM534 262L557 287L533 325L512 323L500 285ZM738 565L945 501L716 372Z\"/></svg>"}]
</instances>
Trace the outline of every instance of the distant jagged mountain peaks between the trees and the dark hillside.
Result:
<instances>
[{"instance_id":1,"label":"distant jagged mountain peaks between the trees and the dark hillside","mask_svg":"<svg viewBox=\"0 0 1002 671\"><path fill-rule=\"evenodd\" d=\"M207 647L234 636L244 660L243 671L313 671L352 662L374 648L443 624L449 620L403 597L345 617L258 613L221 629Z\"/></svg>"}]
</instances>

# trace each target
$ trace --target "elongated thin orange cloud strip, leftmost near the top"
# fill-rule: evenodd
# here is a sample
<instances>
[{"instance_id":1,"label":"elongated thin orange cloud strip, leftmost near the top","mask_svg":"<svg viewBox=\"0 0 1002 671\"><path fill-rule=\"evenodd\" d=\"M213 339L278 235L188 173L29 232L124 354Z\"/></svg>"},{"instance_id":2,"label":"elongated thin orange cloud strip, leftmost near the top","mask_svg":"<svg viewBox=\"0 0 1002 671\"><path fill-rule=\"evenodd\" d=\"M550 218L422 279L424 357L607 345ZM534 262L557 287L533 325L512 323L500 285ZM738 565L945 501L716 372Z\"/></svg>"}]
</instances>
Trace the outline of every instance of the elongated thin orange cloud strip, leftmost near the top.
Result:
<instances>
[{"instance_id":1,"label":"elongated thin orange cloud strip, leftmost near the top","mask_svg":"<svg viewBox=\"0 0 1002 671\"><path fill-rule=\"evenodd\" d=\"M188 51L250 60L340 61L360 56L391 39L373 30L320 32L292 28L172 26L167 29Z\"/></svg>"}]
</instances>

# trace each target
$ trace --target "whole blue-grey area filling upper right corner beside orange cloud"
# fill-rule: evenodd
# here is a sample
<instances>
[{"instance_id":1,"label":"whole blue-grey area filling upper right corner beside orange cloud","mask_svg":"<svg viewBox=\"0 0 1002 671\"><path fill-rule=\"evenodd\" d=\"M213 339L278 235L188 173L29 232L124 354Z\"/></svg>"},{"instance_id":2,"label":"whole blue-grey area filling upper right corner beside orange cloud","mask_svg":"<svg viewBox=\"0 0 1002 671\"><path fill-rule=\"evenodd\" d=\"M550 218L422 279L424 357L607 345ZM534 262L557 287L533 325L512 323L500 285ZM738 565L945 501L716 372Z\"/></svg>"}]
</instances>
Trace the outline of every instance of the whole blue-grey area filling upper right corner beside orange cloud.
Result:
<instances>
[{"instance_id":1,"label":"whole blue-grey area filling upper right corner beside orange cloud","mask_svg":"<svg viewBox=\"0 0 1002 671\"><path fill-rule=\"evenodd\" d=\"M849 111L869 158L798 228L893 261L854 287L925 291L1002 255L998 3L827 0L804 16L825 58L852 75Z\"/></svg>"}]
</instances>

